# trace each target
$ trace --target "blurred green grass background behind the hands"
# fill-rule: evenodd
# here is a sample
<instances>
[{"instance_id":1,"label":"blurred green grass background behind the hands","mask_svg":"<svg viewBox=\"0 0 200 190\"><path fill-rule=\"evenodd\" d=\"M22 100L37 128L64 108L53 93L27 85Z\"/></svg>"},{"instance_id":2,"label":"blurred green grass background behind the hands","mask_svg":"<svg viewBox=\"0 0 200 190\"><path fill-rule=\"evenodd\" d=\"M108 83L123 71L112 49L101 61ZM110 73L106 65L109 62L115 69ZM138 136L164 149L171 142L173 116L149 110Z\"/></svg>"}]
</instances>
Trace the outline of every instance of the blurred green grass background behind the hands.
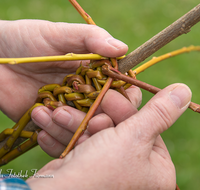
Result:
<instances>
[{"instance_id":1,"label":"blurred green grass background behind the hands","mask_svg":"<svg viewBox=\"0 0 200 190\"><path fill-rule=\"evenodd\" d=\"M129 45L129 52L140 46L160 30L196 6L198 0L79 0L82 7L100 27L105 28L115 38ZM0 19L45 19L55 22L84 23L67 0L6 0L1 2ZM200 25L192 28L169 43L154 56L158 56L183 46L200 45ZM198 52L179 55L163 61L141 73L138 79L159 88L182 82L193 91L193 101L200 103L200 55ZM143 105L152 95L143 92ZM162 134L177 170L177 183L181 189L195 189L200 186L200 115L187 110L183 116ZM10 121L0 113L1 130L11 127ZM29 151L20 158L3 166L3 172L11 169L39 169L52 158L40 147Z\"/></svg>"}]
</instances>

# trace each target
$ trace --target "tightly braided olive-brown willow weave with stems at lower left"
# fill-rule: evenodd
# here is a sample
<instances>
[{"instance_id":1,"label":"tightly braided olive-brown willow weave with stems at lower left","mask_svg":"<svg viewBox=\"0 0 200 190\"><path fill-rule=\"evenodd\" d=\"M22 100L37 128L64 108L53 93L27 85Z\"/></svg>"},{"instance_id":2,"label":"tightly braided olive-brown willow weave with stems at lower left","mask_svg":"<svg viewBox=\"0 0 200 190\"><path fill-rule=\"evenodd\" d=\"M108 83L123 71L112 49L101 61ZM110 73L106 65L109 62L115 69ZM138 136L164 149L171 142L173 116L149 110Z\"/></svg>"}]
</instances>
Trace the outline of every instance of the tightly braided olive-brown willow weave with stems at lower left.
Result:
<instances>
[{"instance_id":1,"label":"tightly braided olive-brown willow weave with stems at lower left","mask_svg":"<svg viewBox=\"0 0 200 190\"><path fill-rule=\"evenodd\" d=\"M76 73L67 75L62 84L48 84L40 88L34 106L12 129L6 129L0 133L0 142L5 142L0 149L0 165L8 163L37 145L37 134L41 129L24 130L31 120L30 115L35 107L44 105L54 110L57 107L68 105L88 112L108 79L108 76L102 73L103 65L113 68L109 60L91 61L85 66L80 64ZM113 80L108 88L116 89L127 97L124 89L129 86L130 84L122 80Z\"/></svg>"}]
</instances>

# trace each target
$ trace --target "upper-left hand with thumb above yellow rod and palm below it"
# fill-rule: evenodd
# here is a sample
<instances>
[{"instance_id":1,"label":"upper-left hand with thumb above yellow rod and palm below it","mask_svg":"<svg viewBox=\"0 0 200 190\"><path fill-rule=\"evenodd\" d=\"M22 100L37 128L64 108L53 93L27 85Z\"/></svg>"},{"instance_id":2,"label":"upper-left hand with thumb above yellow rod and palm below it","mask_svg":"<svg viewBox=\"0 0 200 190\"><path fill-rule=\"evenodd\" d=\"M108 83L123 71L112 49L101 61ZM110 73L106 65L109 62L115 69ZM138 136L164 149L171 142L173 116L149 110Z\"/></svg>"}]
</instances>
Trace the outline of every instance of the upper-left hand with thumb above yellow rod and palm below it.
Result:
<instances>
[{"instance_id":1,"label":"upper-left hand with thumb above yellow rod and palm below it","mask_svg":"<svg viewBox=\"0 0 200 190\"><path fill-rule=\"evenodd\" d=\"M98 53L117 57L127 45L98 26L52 23L41 20L0 21L0 57L53 56L66 53ZM61 83L80 62L0 65L0 109L17 121L30 108L38 89Z\"/></svg>"}]
</instances>

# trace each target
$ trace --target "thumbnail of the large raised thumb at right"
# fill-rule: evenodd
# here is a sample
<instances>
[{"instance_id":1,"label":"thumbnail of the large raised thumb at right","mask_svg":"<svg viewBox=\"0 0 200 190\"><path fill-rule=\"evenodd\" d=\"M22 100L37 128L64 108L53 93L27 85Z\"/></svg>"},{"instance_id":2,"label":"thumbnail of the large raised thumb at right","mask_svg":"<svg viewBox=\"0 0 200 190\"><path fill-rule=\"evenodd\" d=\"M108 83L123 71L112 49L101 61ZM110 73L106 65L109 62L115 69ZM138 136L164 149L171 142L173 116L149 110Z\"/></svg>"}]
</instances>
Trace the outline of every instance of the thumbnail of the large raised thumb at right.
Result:
<instances>
[{"instance_id":1,"label":"thumbnail of the large raised thumb at right","mask_svg":"<svg viewBox=\"0 0 200 190\"><path fill-rule=\"evenodd\" d=\"M172 102L180 109L188 106L191 96L191 90L183 84L178 85L170 92Z\"/></svg>"}]
</instances>

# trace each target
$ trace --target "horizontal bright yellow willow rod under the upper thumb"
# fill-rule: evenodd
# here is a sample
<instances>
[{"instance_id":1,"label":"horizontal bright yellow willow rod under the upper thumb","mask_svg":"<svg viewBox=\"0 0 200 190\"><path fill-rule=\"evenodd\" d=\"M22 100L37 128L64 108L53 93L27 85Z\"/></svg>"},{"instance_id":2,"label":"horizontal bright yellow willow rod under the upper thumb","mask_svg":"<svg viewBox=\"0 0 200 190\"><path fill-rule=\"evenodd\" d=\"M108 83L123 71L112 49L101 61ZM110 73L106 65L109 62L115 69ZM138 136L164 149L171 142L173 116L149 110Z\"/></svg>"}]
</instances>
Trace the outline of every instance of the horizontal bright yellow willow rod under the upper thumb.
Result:
<instances>
[{"instance_id":1,"label":"horizontal bright yellow willow rod under the upper thumb","mask_svg":"<svg viewBox=\"0 0 200 190\"><path fill-rule=\"evenodd\" d=\"M122 59L125 56L117 57ZM33 62L52 62L52 61L76 61L76 60L99 60L108 59L99 54L74 54L68 53L66 55L45 56L45 57L24 57L24 58L0 58L0 64L20 64Z\"/></svg>"}]
</instances>

